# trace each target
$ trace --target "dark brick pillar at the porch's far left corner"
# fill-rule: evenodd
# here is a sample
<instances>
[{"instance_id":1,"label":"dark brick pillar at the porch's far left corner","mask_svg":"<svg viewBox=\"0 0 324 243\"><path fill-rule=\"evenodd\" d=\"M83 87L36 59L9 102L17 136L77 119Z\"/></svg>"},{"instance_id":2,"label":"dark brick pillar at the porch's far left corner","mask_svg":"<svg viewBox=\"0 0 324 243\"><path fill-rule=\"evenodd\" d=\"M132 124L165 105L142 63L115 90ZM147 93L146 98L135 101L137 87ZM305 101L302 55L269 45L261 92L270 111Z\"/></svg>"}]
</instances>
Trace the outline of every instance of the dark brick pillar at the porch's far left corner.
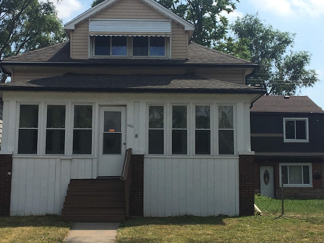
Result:
<instances>
[{"instance_id":1,"label":"dark brick pillar at the porch's far left corner","mask_svg":"<svg viewBox=\"0 0 324 243\"><path fill-rule=\"evenodd\" d=\"M0 216L10 214L12 155L0 154Z\"/></svg>"}]
</instances>

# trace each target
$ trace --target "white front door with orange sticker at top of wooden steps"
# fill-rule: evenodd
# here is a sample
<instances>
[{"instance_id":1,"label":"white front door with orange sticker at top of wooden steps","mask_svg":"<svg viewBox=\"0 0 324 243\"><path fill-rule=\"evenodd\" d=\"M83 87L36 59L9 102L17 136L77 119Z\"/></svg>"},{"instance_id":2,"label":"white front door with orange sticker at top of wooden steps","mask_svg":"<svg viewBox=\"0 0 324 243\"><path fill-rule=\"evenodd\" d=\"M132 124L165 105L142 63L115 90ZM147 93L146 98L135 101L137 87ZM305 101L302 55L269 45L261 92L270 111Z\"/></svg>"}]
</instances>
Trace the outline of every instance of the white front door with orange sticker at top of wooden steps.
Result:
<instances>
[{"instance_id":1,"label":"white front door with orange sticker at top of wooden steps","mask_svg":"<svg viewBox=\"0 0 324 243\"><path fill-rule=\"evenodd\" d=\"M126 107L100 107L98 176L120 176L126 150Z\"/></svg>"}]
</instances>

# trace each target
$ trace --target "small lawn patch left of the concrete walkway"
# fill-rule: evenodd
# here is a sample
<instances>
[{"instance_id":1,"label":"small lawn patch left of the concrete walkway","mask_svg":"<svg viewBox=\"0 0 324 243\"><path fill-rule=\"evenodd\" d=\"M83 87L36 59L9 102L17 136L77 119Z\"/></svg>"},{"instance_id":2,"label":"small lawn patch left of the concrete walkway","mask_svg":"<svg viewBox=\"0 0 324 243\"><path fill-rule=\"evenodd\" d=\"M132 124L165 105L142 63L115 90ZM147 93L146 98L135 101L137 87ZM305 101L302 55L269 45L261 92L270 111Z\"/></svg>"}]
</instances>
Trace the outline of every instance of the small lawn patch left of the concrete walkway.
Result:
<instances>
[{"instance_id":1,"label":"small lawn patch left of the concrete walkway","mask_svg":"<svg viewBox=\"0 0 324 243\"><path fill-rule=\"evenodd\" d=\"M59 216L0 217L0 243L63 242L71 227Z\"/></svg>"}]
</instances>

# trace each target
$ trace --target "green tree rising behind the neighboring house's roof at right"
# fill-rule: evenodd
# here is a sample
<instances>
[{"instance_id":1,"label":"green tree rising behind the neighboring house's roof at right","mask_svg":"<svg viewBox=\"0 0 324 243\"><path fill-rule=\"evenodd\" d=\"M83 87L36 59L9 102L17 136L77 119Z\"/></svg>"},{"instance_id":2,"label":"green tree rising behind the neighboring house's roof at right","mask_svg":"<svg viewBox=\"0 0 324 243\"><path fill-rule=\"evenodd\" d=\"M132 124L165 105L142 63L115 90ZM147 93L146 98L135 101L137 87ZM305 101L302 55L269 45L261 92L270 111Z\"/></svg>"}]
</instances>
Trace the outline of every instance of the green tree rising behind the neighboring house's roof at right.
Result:
<instances>
[{"instance_id":1,"label":"green tree rising behind the neighboring house's roof at right","mask_svg":"<svg viewBox=\"0 0 324 243\"><path fill-rule=\"evenodd\" d=\"M234 37L217 48L260 65L247 78L248 84L262 85L268 95L294 95L318 80L315 70L307 69L311 55L289 51L294 44L294 33L264 24L258 14L238 18L231 29Z\"/></svg>"}]
</instances>

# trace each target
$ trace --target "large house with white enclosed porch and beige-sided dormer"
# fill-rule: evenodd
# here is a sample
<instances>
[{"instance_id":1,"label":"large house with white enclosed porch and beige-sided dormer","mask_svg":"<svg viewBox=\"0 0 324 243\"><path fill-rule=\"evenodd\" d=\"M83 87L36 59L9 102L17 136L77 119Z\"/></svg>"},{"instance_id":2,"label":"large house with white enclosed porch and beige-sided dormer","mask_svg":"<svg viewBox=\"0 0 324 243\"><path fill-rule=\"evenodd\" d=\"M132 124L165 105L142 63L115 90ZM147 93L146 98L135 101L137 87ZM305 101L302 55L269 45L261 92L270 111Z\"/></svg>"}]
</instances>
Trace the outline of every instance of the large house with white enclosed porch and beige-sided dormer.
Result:
<instances>
[{"instance_id":1,"label":"large house with white enclosed porch and beige-sided dormer","mask_svg":"<svg viewBox=\"0 0 324 243\"><path fill-rule=\"evenodd\" d=\"M256 64L191 43L193 25L153 0L106 0L65 29L69 42L0 65L11 215L123 219L129 148L131 215L254 213Z\"/></svg>"}]
</instances>

